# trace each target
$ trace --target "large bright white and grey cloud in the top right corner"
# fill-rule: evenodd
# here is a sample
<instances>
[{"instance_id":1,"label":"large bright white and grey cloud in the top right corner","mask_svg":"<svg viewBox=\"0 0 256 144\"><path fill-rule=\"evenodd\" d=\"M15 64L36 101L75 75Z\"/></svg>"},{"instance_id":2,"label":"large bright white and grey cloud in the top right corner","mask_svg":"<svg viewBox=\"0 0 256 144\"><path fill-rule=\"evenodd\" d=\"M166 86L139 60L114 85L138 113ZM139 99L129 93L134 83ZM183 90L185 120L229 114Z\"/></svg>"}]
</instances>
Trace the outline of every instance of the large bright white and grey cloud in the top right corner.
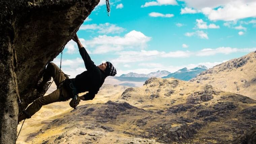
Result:
<instances>
[{"instance_id":1,"label":"large bright white and grey cloud in the top right corner","mask_svg":"<svg viewBox=\"0 0 256 144\"><path fill-rule=\"evenodd\" d=\"M211 21L235 21L256 16L255 0L182 0ZM190 10L190 9L189 9ZM192 11L195 12L195 11Z\"/></svg>"}]
</instances>

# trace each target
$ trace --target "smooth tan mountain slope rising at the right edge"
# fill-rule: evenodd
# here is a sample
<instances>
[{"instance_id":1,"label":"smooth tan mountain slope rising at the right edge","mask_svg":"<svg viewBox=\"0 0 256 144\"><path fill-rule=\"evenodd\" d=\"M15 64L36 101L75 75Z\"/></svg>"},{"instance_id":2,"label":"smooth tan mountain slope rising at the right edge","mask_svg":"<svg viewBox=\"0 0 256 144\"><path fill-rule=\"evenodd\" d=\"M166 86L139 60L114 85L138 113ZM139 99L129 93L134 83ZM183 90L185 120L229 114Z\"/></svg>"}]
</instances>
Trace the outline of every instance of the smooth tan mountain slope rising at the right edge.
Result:
<instances>
[{"instance_id":1,"label":"smooth tan mountain slope rising at the right edge","mask_svg":"<svg viewBox=\"0 0 256 144\"><path fill-rule=\"evenodd\" d=\"M256 99L256 51L219 64L190 81Z\"/></svg>"}]
</instances>

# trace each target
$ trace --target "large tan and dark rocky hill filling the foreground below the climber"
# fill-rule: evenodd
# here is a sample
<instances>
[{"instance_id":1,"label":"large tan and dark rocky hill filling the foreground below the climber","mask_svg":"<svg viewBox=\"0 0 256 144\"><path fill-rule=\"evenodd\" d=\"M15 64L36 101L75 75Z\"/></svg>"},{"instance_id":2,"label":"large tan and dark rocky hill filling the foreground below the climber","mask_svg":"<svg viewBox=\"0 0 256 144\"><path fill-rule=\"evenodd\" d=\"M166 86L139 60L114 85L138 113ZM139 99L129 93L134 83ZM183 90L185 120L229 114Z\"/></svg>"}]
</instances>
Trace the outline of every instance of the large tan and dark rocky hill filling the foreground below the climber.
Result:
<instances>
[{"instance_id":1,"label":"large tan and dark rocky hill filling the foreground below the climber","mask_svg":"<svg viewBox=\"0 0 256 144\"><path fill-rule=\"evenodd\" d=\"M211 85L151 78L142 87L114 93L108 97L111 101L96 103L107 100L100 93L96 100L48 121L28 119L34 123L30 127L42 127L27 127L30 134L23 139L43 144L231 143L243 141L241 135L250 135L247 132L256 124L255 100Z\"/></svg>"}]
</instances>

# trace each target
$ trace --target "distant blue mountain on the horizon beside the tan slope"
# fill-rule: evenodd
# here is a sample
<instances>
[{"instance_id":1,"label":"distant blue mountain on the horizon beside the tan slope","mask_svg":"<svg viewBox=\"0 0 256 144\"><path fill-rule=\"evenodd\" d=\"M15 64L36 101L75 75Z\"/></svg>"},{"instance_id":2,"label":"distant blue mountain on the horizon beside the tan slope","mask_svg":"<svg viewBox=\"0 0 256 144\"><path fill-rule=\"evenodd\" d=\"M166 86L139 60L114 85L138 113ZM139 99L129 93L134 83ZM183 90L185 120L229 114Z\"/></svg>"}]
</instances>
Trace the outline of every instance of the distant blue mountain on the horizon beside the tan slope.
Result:
<instances>
[{"instance_id":1,"label":"distant blue mountain on the horizon beside the tan slope","mask_svg":"<svg viewBox=\"0 0 256 144\"><path fill-rule=\"evenodd\" d=\"M178 79L187 81L187 80L190 80L191 78L196 77L198 74L200 74L201 72L203 72L205 70L207 70L207 67L202 66L202 65L195 67L193 69L183 68L183 69L178 70L177 72L171 73L162 78L174 77L174 78L178 78Z\"/></svg>"}]
</instances>

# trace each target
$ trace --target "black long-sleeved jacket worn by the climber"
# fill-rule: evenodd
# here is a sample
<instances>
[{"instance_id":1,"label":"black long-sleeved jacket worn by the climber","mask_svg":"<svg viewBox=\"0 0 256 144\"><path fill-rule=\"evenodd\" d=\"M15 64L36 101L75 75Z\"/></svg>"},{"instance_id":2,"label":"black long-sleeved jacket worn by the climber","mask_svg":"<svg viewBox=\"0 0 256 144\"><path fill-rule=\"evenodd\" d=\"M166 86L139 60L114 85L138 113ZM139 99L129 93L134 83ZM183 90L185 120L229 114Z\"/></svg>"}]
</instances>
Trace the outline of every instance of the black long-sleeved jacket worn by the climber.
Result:
<instances>
[{"instance_id":1,"label":"black long-sleeved jacket worn by the climber","mask_svg":"<svg viewBox=\"0 0 256 144\"><path fill-rule=\"evenodd\" d=\"M88 92L83 96L85 100L92 100L98 93L107 75L94 64L84 47L79 48L79 52L85 62L87 71L78 74L71 80L78 94Z\"/></svg>"}]
</instances>

